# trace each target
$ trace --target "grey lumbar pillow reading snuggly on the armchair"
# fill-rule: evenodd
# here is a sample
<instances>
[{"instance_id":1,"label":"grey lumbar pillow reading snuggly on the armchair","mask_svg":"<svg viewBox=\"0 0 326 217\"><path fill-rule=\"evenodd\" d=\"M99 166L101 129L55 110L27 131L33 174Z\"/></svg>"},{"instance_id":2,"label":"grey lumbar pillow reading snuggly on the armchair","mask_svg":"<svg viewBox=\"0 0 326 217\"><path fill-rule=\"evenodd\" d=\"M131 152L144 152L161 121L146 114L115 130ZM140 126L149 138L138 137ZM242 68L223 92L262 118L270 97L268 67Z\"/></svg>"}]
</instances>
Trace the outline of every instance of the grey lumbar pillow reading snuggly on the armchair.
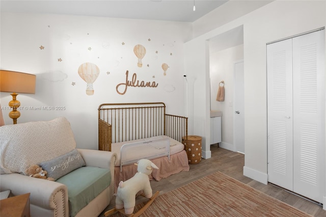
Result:
<instances>
[{"instance_id":1,"label":"grey lumbar pillow reading snuggly on the armchair","mask_svg":"<svg viewBox=\"0 0 326 217\"><path fill-rule=\"evenodd\" d=\"M71 171L84 166L86 166L85 161L77 149L40 163L40 167L47 171L47 176L52 177L55 181Z\"/></svg>"}]
</instances>

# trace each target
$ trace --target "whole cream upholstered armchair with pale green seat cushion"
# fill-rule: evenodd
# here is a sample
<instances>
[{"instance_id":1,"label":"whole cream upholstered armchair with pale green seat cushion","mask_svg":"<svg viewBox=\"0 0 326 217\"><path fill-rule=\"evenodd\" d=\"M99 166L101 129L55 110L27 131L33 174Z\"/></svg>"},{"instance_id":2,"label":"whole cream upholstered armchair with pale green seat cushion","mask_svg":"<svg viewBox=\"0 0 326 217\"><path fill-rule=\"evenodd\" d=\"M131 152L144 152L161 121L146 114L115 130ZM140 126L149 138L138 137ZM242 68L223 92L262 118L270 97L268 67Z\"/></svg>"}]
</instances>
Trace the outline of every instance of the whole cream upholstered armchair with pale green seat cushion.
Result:
<instances>
[{"instance_id":1,"label":"whole cream upholstered armchair with pale green seat cushion","mask_svg":"<svg viewBox=\"0 0 326 217\"><path fill-rule=\"evenodd\" d=\"M76 149L70 123L65 118L1 126L0 147L0 190L10 190L13 196L31 193L31 216L98 216L113 198L116 153ZM24 171L32 164L40 165L42 162L54 160L57 166L61 165L56 160L75 150L82 156L85 166L73 168L71 172L58 178L58 181L24 175ZM71 161L69 161L69 167L70 165L73 165ZM75 205L71 201L71 195L68 194L75 189L70 189L71 185L64 184L63 179L69 175L69 181L73 183L73 188L75 188L74 180L83 183L84 180L88 179L87 176L90 176L89 172L95 168L106 169L103 170L106 172L101 181L102 189L98 190L98 194L87 189L87 196L94 194L94 198L88 198L89 201L84 204L85 206L80 205L77 200L78 206L83 207L76 209L73 207ZM80 169L88 169L88 173L80 173ZM71 176L73 173L74 175ZM49 174L48 171L48 176L51 177ZM94 182L94 186L99 183L98 180L100 178L91 180ZM83 188L83 185L80 187ZM78 189L78 191L83 192L84 190ZM85 197L83 197L84 199Z\"/></svg>"}]
</instances>

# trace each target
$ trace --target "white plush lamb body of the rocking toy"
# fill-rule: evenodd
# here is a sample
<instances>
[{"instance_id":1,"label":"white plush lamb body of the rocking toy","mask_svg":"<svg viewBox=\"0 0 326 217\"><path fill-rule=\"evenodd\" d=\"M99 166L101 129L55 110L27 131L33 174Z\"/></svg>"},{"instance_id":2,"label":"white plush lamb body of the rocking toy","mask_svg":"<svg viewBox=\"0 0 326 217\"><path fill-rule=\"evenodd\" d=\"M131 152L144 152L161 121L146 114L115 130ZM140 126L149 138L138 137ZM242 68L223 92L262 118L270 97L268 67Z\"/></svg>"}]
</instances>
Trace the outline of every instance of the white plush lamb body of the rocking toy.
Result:
<instances>
[{"instance_id":1,"label":"white plush lamb body of the rocking toy","mask_svg":"<svg viewBox=\"0 0 326 217\"><path fill-rule=\"evenodd\" d=\"M158 169L152 161L141 159L137 164L137 173L127 181L121 181L117 190L116 209L124 208L126 214L132 214L135 206L136 194L143 191L146 198L151 198L152 188L149 181L149 175L152 168Z\"/></svg>"}]
</instances>

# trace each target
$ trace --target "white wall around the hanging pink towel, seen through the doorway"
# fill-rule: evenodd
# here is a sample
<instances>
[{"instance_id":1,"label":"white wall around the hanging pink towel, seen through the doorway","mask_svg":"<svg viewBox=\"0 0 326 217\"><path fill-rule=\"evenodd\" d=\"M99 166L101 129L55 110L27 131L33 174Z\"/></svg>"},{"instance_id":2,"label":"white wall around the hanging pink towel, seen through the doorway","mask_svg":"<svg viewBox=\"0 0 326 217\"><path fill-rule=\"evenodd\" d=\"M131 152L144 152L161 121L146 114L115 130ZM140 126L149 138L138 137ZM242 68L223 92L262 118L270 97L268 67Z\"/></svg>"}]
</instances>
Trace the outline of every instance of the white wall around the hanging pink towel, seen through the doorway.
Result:
<instances>
[{"instance_id":1,"label":"white wall around the hanging pink towel, seen through the doorway","mask_svg":"<svg viewBox=\"0 0 326 217\"><path fill-rule=\"evenodd\" d=\"M222 144L220 147L233 147L233 90L234 62L243 59L243 45L231 47L209 55L210 107L222 111ZM216 101L219 83L224 80L224 101ZM223 145L224 144L224 145ZM231 148L233 151L234 149Z\"/></svg>"}]
</instances>

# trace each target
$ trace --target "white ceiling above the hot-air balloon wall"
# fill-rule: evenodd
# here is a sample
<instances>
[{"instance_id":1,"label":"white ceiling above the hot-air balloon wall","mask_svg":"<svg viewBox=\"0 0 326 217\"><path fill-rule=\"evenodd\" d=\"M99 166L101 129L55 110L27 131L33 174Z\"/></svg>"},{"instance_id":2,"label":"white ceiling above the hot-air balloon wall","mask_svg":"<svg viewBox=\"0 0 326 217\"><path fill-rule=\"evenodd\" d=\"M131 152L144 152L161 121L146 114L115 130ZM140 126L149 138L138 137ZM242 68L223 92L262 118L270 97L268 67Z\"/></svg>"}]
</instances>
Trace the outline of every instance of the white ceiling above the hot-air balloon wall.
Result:
<instances>
[{"instance_id":1,"label":"white ceiling above the hot-air balloon wall","mask_svg":"<svg viewBox=\"0 0 326 217\"><path fill-rule=\"evenodd\" d=\"M52 13L131 19L194 22L223 0L22 0L0 1L1 12ZM196 11L193 11L193 6Z\"/></svg>"}]
</instances>

